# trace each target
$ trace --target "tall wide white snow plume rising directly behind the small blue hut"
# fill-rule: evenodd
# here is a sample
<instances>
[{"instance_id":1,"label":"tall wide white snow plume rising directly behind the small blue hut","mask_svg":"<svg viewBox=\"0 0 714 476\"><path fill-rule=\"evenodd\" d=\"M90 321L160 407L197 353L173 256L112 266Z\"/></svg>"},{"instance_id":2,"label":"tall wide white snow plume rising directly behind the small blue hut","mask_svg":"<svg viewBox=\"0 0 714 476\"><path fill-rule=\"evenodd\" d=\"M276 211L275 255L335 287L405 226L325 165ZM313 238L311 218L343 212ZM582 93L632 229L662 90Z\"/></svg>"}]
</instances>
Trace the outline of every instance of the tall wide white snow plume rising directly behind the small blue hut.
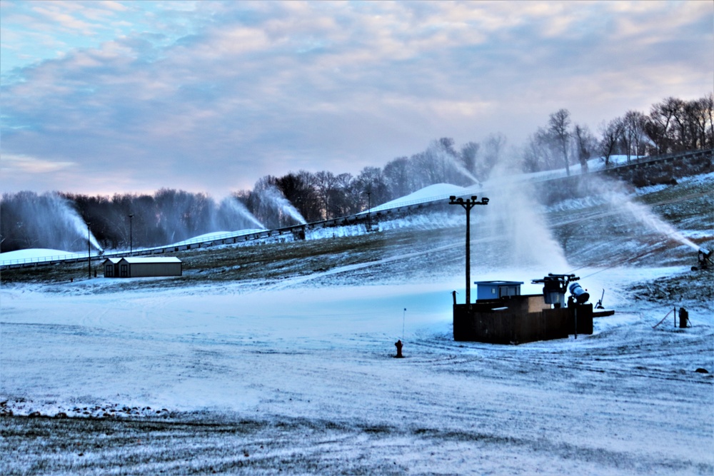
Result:
<instances>
[{"instance_id":1,"label":"tall wide white snow plume rising directly behind the small blue hut","mask_svg":"<svg viewBox=\"0 0 714 476\"><path fill-rule=\"evenodd\" d=\"M486 223L482 231L472 230L471 237L488 238L496 243L497 261L501 265L537 265L543 267L544 273L567 272L570 265L563 248L553 238L536 194L529 183L514 179L517 177L507 165L493 169L484 185L488 205L478 207L485 208Z\"/></svg>"}]
</instances>

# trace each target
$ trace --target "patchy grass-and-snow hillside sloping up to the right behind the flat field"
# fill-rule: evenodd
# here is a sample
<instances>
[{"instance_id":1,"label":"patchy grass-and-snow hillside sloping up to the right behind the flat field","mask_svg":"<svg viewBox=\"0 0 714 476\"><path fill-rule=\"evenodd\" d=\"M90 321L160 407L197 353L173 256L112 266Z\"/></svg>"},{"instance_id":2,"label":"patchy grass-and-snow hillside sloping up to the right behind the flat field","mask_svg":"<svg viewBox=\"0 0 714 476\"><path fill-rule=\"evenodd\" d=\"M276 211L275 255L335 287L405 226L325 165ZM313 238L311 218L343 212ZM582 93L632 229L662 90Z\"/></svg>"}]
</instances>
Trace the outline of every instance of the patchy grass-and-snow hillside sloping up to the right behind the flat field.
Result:
<instances>
[{"instance_id":1,"label":"patchy grass-and-snow hillside sloping up to the right behind the flat field","mask_svg":"<svg viewBox=\"0 0 714 476\"><path fill-rule=\"evenodd\" d=\"M590 184L588 196L540 206L521 184L497 188L487 207L472 211L472 275L499 269L578 273L583 268L690 267L692 245L714 248L714 174L680 178L675 185L627 188L620 182ZM110 292L238 282L251 286L299 278L314 285L386 284L453 280L463 276L465 217L461 207L420 208L378 221L379 231L326 228L308 240L221 245L176 253L179 279L87 282L86 263L5 270L4 284L44 283L66 288L74 280ZM687 245L683 242L690 240ZM98 265L95 261L93 266ZM59 283L59 284L58 284ZM59 288L53 288L59 285ZM711 296L705 286L702 296Z\"/></svg>"}]
</instances>

